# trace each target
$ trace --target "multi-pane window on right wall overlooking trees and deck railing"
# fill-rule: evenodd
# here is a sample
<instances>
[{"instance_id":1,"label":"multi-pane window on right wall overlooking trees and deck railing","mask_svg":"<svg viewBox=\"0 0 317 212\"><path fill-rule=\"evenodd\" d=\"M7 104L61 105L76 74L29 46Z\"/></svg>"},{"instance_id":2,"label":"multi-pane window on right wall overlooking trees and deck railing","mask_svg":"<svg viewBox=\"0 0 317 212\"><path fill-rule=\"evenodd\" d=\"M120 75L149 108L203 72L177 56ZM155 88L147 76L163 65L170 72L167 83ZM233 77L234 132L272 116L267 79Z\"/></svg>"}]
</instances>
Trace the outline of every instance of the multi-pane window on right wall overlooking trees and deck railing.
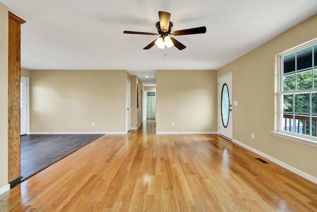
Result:
<instances>
[{"instance_id":1,"label":"multi-pane window on right wall overlooking trees and deck railing","mask_svg":"<svg viewBox=\"0 0 317 212\"><path fill-rule=\"evenodd\" d=\"M317 41L279 61L279 132L317 143Z\"/></svg>"}]
</instances>

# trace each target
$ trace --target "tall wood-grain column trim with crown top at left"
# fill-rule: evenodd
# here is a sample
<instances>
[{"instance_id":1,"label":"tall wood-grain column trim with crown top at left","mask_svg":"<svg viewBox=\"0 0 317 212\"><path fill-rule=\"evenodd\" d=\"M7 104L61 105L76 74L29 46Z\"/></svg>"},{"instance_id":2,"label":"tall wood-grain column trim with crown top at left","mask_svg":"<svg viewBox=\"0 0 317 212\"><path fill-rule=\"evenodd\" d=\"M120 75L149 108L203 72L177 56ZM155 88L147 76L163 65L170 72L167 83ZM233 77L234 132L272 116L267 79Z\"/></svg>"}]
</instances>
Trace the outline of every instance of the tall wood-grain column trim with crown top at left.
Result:
<instances>
[{"instance_id":1,"label":"tall wood-grain column trim with crown top at left","mask_svg":"<svg viewBox=\"0 0 317 212\"><path fill-rule=\"evenodd\" d=\"M20 29L25 21L9 12L8 40L8 182L19 179L20 161ZM11 184L12 187L12 184Z\"/></svg>"}]
</instances>

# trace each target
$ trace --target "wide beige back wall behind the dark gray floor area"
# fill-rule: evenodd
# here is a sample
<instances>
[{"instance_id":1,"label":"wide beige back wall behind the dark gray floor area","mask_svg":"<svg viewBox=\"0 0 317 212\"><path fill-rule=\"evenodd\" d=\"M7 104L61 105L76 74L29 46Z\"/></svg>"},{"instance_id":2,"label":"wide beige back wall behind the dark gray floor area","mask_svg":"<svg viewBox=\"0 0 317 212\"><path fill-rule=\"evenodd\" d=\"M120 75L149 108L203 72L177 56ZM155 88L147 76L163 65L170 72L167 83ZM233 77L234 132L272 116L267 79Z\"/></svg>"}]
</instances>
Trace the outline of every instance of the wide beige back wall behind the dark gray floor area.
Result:
<instances>
[{"instance_id":1,"label":"wide beige back wall behind the dark gray floor area","mask_svg":"<svg viewBox=\"0 0 317 212\"><path fill-rule=\"evenodd\" d=\"M120 70L31 70L30 132L125 132L127 78Z\"/></svg>"}]
</instances>

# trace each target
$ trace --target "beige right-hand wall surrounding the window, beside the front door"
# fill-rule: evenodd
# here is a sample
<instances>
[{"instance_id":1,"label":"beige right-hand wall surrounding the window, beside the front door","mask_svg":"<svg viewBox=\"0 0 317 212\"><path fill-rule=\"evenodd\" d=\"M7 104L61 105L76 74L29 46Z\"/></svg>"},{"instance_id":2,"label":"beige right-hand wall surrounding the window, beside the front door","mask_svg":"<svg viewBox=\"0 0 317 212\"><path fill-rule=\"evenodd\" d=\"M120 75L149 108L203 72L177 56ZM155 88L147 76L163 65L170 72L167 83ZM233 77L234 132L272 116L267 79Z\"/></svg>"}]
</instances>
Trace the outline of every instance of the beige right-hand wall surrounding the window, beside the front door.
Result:
<instances>
[{"instance_id":1,"label":"beige right-hand wall surrounding the window, beside the front door","mask_svg":"<svg viewBox=\"0 0 317 212\"><path fill-rule=\"evenodd\" d=\"M273 136L275 55L317 37L317 15L218 70L233 72L233 139L317 177L317 147ZM274 126L275 125L275 126ZM251 133L255 139L251 139Z\"/></svg>"}]
</instances>

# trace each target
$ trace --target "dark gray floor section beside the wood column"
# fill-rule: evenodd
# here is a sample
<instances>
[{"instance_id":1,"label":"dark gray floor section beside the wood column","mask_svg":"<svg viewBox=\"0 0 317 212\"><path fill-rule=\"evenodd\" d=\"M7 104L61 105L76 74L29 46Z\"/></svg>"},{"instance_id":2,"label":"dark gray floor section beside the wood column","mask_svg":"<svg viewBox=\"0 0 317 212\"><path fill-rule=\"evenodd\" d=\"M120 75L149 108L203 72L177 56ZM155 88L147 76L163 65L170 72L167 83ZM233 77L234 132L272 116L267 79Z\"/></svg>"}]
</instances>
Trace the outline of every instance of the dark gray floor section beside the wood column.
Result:
<instances>
[{"instance_id":1,"label":"dark gray floor section beside the wood column","mask_svg":"<svg viewBox=\"0 0 317 212\"><path fill-rule=\"evenodd\" d=\"M77 135L24 135L21 136L21 181L45 169L79 148L103 136Z\"/></svg>"}]
</instances>

